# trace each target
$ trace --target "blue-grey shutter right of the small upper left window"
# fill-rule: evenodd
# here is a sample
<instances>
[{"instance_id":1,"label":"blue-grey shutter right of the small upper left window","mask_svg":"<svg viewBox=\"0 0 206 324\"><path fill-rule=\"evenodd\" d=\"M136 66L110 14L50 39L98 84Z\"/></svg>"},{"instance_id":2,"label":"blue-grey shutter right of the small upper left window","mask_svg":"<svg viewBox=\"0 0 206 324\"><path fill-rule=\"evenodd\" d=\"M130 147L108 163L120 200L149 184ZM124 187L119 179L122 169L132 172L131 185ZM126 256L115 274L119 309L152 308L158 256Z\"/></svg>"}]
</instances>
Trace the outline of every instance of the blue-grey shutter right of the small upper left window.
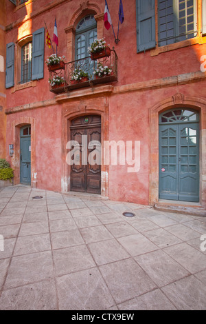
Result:
<instances>
[{"instance_id":1,"label":"blue-grey shutter right of the small upper left window","mask_svg":"<svg viewBox=\"0 0 206 324\"><path fill-rule=\"evenodd\" d=\"M44 77L45 28L32 34L32 80Z\"/></svg>"}]
</instances>

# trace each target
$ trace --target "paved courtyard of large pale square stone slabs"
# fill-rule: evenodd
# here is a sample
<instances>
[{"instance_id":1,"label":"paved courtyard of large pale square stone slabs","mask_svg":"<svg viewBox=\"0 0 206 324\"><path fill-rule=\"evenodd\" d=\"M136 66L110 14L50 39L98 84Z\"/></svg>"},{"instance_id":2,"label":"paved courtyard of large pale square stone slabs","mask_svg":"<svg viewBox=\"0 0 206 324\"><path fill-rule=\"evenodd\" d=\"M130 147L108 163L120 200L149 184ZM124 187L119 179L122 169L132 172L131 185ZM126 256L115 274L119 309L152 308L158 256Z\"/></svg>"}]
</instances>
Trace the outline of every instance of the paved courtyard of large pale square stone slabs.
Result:
<instances>
[{"instance_id":1,"label":"paved courtyard of large pale square stone slabs","mask_svg":"<svg viewBox=\"0 0 206 324\"><path fill-rule=\"evenodd\" d=\"M19 185L0 235L0 310L206 310L206 217Z\"/></svg>"}]
</instances>

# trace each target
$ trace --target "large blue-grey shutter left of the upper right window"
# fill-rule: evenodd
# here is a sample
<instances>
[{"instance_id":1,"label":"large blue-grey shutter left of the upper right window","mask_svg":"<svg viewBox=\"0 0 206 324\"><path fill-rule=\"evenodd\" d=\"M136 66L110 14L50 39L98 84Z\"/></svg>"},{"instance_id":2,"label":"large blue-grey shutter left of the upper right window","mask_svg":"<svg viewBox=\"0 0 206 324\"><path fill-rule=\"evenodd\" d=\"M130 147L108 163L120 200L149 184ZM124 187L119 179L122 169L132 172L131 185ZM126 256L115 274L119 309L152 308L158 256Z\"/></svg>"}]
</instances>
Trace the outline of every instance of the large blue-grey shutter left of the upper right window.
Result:
<instances>
[{"instance_id":1,"label":"large blue-grey shutter left of the upper right window","mask_svg":"<svg viewBox=\"0 0 206 324\"><path fill-rule=\"evenodd\" d=\"M155 48L155 0L136 0L137 52Z\"/></svg>"}]
</instances>

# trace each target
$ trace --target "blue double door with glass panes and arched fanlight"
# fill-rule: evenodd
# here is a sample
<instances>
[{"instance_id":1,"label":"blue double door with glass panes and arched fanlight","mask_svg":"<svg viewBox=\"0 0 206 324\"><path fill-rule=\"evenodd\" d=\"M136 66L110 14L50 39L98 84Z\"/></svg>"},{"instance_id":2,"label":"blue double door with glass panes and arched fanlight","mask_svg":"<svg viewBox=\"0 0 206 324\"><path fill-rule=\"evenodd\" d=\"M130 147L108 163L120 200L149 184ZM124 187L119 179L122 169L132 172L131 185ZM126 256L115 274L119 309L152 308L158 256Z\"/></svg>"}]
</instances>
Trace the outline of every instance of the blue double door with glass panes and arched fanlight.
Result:
<instances>
[{"instance_id":1,"label":"blue double door with glass panes and arched fanlight","mask_svg":"<svg viewBox=\"0 0 206 324\"><path fill-rule=\"evenodd\" d=\"M160 116L159 198L199 201L198 113L175 109Z\"/></svg>"}]
</instances>

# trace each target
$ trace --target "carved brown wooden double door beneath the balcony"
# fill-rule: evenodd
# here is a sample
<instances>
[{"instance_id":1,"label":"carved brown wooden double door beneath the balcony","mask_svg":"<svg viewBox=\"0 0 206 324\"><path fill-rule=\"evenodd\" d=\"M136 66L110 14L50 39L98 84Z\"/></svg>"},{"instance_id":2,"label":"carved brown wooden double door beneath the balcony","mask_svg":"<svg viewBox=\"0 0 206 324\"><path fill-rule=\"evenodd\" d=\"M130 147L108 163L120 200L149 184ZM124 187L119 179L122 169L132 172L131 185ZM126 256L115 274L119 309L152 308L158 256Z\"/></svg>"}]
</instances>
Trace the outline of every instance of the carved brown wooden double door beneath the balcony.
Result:
<instances>
[{"instance_id":1,"label":"carved brown wooden double door beneath the balcony","mask_svg":"<svg viewBox=\"0 0 206 324\"><path fill-rule=\"evenodd\" d=\"M101 194L101 117L89 115L73 119L70 139L78 143L76 148L73 146L77 153L71 165L71 191Z\"/></svg>"}]
</instances>

